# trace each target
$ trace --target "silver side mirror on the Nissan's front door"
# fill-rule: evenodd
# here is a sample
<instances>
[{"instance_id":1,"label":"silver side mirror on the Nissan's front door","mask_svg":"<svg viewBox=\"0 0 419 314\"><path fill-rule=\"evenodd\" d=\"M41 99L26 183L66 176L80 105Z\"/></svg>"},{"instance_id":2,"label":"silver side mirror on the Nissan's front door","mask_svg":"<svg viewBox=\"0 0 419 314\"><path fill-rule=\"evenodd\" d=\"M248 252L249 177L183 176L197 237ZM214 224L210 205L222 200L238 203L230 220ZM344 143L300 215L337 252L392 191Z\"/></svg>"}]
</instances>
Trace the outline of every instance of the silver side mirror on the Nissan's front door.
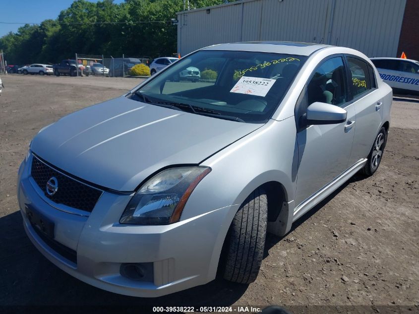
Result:
<instances>
[{"instance_id":1,"label":"silver side mirror on the Nissan's front door","mask_svg":"<svg viewBox=\"0 0 419 314\"><path fill-rule=\"evenodd\" d=\"M315 102L307 107L307 125L333 125L346 121L345 109L326 103Z\"/></svg>"}]
</instances>

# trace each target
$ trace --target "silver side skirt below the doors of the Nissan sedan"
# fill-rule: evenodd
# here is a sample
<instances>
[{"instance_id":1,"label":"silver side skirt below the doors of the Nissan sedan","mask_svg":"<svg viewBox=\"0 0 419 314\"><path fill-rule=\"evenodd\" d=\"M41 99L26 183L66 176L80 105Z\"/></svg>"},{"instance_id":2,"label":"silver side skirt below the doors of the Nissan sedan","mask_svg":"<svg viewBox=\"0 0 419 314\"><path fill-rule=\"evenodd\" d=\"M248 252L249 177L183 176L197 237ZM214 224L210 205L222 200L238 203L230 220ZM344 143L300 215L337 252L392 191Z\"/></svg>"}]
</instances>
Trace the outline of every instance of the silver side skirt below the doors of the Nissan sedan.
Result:
<instances>
[{"instance_id":1,"label":"silver side skirt below the doors of the Nissan sedan","mask_svg":"<svg viewBox=\"0 0 419 314\"><path fill-rule=\"evenodd\" d=\"M346 170L340 176L333 179L333 181L329 182L323 188L319 189L317 192L312 194L310 197L303 200L296 208L294 208L294 218L293 222L299 219L302 215L304 215L307 211L333 193L337 188L343 185L346 181L348 181L353 175L355 175L366 163L367 159L363 158L360 159L355 165L351 168Z\"/></svg>"}]
</instances>

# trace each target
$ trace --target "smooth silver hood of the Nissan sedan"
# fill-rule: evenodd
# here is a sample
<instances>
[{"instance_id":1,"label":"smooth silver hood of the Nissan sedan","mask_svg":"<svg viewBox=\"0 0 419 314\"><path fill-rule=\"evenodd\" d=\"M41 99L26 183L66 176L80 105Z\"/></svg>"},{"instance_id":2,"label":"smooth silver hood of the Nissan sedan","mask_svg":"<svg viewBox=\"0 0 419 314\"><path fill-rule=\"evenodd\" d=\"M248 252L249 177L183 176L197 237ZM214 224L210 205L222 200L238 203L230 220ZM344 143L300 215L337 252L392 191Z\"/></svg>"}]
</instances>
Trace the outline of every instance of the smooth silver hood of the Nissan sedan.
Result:
<instances>
[{"instance_id":1,"label":"smooth silver hood of the Nissan sedan","mask_svg":"<svg viewBox=\"0 0 419 314\"><path fill-rule=\"evenodd\" d=\"M91 183L132 191L167 166L199 164L261 125L199 116L125 97L42 129L31 150Z\"/></svg>"}]
</instances>

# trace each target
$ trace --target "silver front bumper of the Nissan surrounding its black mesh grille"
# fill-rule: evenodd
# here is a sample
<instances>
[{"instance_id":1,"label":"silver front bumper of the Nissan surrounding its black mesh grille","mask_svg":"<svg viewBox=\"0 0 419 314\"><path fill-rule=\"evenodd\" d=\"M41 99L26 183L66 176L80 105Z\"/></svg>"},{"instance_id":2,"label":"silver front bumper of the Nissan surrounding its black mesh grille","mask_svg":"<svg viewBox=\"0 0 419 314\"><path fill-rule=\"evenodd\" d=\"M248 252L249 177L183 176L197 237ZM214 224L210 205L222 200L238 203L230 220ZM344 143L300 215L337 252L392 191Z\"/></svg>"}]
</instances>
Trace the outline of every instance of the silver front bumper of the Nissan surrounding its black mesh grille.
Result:
<instances>
[{"instance_id":1,"label":"silver front bumper of the Nissan surrounding its black mesh grille","mask_svg":"<svg viewBox=\"0 0 419 314\"><path fill-rule=\"evenodd\" d=\"M213 280L225 235L226 219L236 206L227 206L166 226L119 223L130 195L105 191L92 213L83 217L47 203L29 176L31 156L19 169L17 196L29 239L51 262L70 275L98 288L137 296L159 297ZM72 262L40 237L26 217L30 206L54 222L54 241L75 251ZM121 263L152 263L152 279L128 279Z\"/></svg>"}]
</instances>

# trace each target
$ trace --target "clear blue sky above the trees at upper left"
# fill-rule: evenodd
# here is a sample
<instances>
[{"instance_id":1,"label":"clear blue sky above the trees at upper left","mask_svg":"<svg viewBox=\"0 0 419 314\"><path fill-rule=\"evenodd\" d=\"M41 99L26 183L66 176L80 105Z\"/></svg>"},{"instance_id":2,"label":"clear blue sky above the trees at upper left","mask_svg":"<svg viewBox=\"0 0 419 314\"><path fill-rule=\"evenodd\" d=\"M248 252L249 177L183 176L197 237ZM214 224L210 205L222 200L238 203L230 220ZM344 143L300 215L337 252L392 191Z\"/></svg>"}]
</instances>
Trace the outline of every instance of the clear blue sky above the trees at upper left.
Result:
<instances>
[{"instance_id":1,"label":"clear blue sky above the trees at upper left","mask_svg":"<svg viewBox=\"0 0 419 314\"><path fill-rule=\"evenodd\" d=\"M0 2L0 22L38 24L49 18L57 18L61 10L69 7L73 0L1 0ZM120 2L123 0L114 0L114 3ZM20 26L23 24L0 23L0 37L10 31L16 32Z\"/></svg>"}]
</instances>

